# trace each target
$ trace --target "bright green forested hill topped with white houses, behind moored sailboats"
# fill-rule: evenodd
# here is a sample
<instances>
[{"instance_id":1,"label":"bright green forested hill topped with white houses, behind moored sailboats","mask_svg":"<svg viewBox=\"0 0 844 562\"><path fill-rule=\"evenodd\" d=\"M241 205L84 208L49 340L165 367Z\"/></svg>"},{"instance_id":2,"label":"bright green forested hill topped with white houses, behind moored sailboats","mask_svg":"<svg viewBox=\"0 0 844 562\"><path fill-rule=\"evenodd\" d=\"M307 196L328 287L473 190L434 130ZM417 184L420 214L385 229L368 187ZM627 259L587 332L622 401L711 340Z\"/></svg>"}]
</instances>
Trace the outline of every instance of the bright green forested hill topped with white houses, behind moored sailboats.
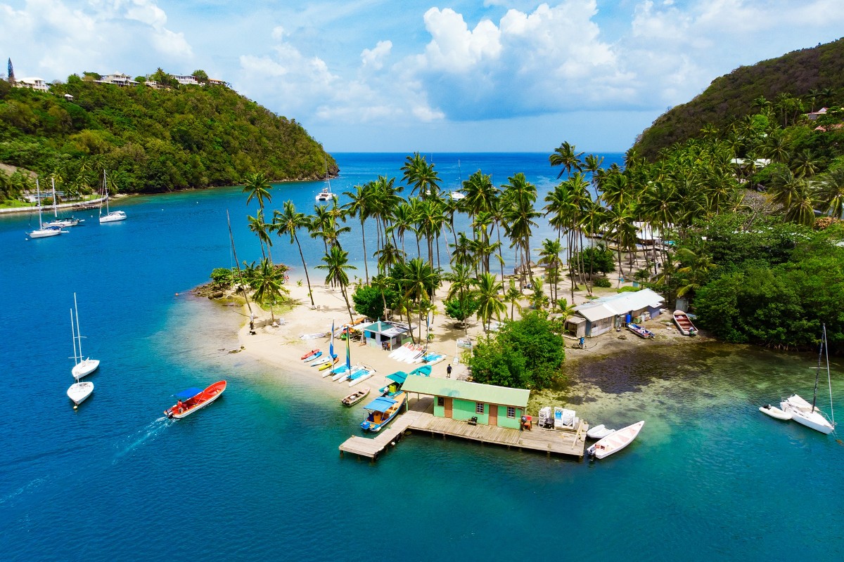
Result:
<instances>
[{"instance_id":1,"label":"bright green forested hill topped with white houses, behind moored sailboats","mask_svg":"<svg viewBox=\"0 0 844 562\"><path fill-rule=\"evenodd\" d=\"M0 163L55 174L71 193L95 189L104 169L124 193L233 185L254 172L281 181L338 171L295 120L225 86L120 87L76 75L49 93L0 80Z\"/></svg>"}]
</instances>

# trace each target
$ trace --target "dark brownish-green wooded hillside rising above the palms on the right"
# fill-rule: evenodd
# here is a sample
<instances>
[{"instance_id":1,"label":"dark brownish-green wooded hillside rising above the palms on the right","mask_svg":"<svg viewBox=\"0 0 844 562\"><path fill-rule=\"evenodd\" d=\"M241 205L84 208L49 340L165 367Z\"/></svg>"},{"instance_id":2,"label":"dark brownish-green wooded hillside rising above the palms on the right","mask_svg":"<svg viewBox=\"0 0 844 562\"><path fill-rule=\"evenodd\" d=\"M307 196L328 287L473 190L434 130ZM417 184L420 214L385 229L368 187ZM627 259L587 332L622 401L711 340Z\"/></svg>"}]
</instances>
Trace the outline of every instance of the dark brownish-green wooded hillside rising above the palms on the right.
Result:
<instances>
[{"instance_id":1,"label":"dark brownish-green wooded hillside rising above the palms on the right","mask_svg":"<svg viewBox=\"0 0 844 562\"><path fill-rule=\"evenodd\" d=\"M783 111L793 111L793 100L812 111L822 106L841 105L844 99L844 39L811 49L739 67L716 78L709 88L687 104L677 105L660 115L634 145L636 151L652 158L674 142L701 136L701 129L723 130L733 121L755 112L761 98L780 103ZM788 107L791 105L792 107Z\"/></svg>"}]
</instances>

